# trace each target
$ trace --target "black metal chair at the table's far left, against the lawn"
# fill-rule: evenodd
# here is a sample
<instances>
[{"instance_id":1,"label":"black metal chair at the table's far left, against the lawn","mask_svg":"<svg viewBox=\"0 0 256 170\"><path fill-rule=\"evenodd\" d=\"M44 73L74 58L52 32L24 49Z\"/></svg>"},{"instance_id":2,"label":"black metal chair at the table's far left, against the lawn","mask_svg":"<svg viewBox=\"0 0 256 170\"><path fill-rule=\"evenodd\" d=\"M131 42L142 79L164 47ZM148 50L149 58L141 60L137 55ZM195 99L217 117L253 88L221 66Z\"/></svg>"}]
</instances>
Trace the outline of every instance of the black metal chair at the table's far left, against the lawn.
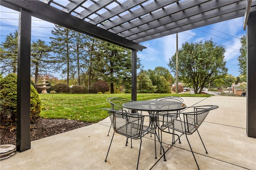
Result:
<instances>
[{"instance_id":1,"label":"black metal chair at the table's far left, against the lawn","mask_svg":"<svg viewBox=\"0 0 256 170\"><path fill-rule=\"evenodd\" d=\"M123 108L123 104L127 102L133 102L133 100L127 99L127 98L120 98L120 97L112 97L112 98L107 98L107 102L110 103L111 109L117 110L117 111L125 111L125 112L130 112L130 109L125 109ZM137 111L138 113L138 111ZM108 135L110 132L111 126L108 131Z\"/></svg>"}]
</instances>

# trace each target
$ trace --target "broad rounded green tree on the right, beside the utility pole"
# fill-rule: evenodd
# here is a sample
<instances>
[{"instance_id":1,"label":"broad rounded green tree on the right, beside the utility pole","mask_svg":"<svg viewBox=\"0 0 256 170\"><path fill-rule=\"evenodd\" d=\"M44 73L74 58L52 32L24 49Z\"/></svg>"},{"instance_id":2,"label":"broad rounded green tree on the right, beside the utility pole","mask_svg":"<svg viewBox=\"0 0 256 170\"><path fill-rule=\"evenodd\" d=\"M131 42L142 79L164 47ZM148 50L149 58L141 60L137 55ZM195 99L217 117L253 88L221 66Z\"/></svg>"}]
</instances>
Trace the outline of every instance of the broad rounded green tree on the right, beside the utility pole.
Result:
<instances>
[{"instance_id":1,"label":"broad rounded green tree on the right, beside the utility pole","mask_svg":"<svg viewBox=\"0 0 256 170\"><path fill-rule=\"evenodd\" d=\"M200 94L206 84L226 75L225 51L222 45L217 45L212 39L204 43L183 43L178 51L179 79L192 84L194 92ZM169 59L168 65L173 71L176 70L176 55Z\"/></svg>"}]
</instances>

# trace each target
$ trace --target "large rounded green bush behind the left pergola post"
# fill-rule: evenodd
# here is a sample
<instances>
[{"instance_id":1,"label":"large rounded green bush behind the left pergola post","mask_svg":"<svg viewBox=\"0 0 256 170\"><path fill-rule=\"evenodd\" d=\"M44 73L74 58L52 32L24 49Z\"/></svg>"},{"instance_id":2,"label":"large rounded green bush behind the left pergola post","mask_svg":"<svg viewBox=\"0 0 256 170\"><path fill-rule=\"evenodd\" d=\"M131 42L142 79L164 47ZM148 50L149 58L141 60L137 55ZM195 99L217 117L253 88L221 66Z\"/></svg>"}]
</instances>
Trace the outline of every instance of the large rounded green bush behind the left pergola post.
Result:
<instances>
[{"instance_id":1,"label":"large rounded green bush behind the left pergola post","mask_svg":"<svg viewBox=\"0 0 256 170\"><path fill-rule=\"evenodd\" d=\"M13 129L17 115L17 74L11 73L4 77L0 84L0 115L1 125ZM40 117L41 100L36 89L30 84L30 122Z\"/></svg>"}]
</instances>

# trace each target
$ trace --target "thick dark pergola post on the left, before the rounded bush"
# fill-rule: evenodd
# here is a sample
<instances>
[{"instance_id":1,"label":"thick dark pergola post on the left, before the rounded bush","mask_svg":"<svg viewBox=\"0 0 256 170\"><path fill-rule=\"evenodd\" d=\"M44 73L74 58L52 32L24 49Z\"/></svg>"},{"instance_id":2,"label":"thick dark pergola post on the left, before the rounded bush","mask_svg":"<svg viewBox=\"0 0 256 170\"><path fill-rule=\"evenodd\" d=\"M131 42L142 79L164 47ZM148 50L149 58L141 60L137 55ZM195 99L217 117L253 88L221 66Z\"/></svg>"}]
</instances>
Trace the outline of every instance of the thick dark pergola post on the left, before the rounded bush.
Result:
<instances>
[{"instance_id":1,"label":"thick dark pergola post on the left, before the rounded bush","mask_svg":"<svg viewBox=\"0 0 256 170\"><path fill-rule=\"evenodd\" d=\"M18 33L16 150L30 149L30 46L31 13L20 8Z\"/></svg>"}]
</instances>

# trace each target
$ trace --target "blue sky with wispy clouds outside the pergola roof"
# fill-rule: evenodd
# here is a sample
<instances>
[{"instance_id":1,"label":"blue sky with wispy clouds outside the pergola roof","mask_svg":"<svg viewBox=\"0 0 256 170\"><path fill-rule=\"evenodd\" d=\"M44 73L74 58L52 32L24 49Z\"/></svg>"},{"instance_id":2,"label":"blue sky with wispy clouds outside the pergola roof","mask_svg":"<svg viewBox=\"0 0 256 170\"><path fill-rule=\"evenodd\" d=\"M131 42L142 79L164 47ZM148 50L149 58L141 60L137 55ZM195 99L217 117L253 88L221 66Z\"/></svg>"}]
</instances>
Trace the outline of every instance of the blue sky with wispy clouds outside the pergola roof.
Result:
<instances>
[{"instance_id":1,"label":"blue sky with wispy clouds outside the pergola roof","mask_svg":"<svg viewBox=\"0 0 256 170\"><path fill-rule=\"evenodd\" d=\"M18 18L19 14L17 11L0 6L1 43L5 41L6 35L18 29ZM186 41L205 41L212 38L217 44L226 47L225 59L228 74L238 76L240 73L238 71L237 58L240 55L239 49L241 47L239 38L246 34L246 31L243 30L243 21L244 18L241 17L178 33L178 47L180 48L182 43ZM52 23L32 17L32 41L41 39L49 43L53 27L54 24ZM144 70L154 70L157 66L170 69L167 64L170 57L176 51L176 34L145 41L140 44L147 47L137 53L141 63L144 65ZM174 75L174 73L172 74ZM60 78L58 75L58 73L54 74L54 76Z\"/></svg>"}]
</instances>

